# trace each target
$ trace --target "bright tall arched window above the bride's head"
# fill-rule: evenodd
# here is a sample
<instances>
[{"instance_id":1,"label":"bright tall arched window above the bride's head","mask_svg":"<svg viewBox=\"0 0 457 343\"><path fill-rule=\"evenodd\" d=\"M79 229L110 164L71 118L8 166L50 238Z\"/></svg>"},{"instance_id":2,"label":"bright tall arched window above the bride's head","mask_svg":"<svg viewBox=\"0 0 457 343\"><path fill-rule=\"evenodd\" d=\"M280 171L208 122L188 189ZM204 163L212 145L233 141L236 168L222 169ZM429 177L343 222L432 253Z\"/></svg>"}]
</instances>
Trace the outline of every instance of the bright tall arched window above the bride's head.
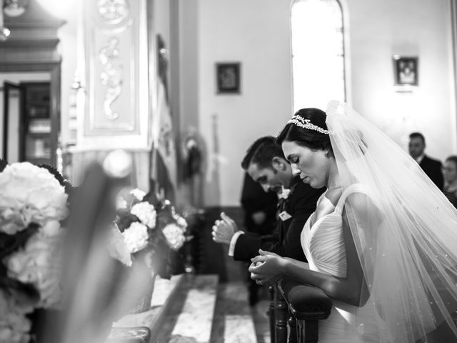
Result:
<instances>
[{"instance_id":1,"label":"bright tall arched window above the bride's head","mask_svg":"<svg viewBox=\"0 0 457 343\"><path fill-rule=\"evenodd\" d=\"M293 108L326 110L346 101L343 11L338 0L295 0L291 7Z\"/></svg>"}]
</instances>

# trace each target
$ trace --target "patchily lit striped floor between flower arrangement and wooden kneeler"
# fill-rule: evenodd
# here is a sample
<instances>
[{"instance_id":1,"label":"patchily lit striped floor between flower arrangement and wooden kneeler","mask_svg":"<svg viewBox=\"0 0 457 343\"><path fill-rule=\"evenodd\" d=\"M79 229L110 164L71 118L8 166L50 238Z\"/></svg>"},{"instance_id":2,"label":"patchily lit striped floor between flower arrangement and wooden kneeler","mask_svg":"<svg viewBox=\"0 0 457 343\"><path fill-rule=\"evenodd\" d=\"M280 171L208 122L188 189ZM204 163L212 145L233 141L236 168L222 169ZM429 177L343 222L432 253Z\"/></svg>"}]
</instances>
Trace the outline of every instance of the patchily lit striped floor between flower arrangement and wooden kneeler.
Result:
<instances>
[{"instance_id":1,"label":"patchily lit striped floor between flower arrangement and wooden kneeler","mask_svg":"<svg viewBox=\"0 0 457 343\"><path fill-rule=\"evenodd\" d=\"M183 282L176 291L154 342L271 342L267 289L260 293L260 301L250 307L244 282L216 284L211 279L199 286L196 281Z\"/></svg>"}]
</instances>

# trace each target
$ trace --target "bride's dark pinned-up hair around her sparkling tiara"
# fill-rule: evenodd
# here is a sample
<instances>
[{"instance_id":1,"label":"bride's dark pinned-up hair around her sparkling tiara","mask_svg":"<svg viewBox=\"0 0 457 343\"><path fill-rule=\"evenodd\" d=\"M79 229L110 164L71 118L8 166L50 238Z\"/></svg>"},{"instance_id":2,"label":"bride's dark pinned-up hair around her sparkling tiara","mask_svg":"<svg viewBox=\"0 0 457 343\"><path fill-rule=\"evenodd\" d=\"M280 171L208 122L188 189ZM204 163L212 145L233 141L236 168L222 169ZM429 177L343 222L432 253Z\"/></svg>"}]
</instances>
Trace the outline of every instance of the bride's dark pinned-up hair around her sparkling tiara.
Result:
<instances>
[{"instance_id":1,"label":"bride's dark pinned-up hair around her sparkling tiara","mask_svg":"<svg viewBox=\"0 0 457 343\"><path fill-rule=\"evenodd\" d=\"M299 109L294 116L301 116L303 119L308 119L311 124L326 130L326 112L320 109ZM279 132L276 137L276 142L281 145L283 141L293 141L298 145L306 146L313 150L329 150L331 151L330 137L328 134L305 129L293 123L288 123Z\"/></svg>"}]
</instances>

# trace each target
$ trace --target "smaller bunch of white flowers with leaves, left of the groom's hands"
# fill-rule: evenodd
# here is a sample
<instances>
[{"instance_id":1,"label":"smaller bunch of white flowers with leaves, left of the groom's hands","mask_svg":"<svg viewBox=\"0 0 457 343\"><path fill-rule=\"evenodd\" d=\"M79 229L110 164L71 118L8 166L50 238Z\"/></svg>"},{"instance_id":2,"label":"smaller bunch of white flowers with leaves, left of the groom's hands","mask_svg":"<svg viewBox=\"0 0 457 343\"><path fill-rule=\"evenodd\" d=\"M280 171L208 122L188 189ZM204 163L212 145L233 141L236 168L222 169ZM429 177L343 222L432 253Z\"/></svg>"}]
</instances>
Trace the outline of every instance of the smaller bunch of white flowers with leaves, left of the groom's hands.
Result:
<instances>
[{"instance_id":1,"label":"smaller bunch of white flowers with leaves, left of the groom's hands","mask_svg":"<svg viewBox=\"0 0 457 343\"><path fill-rule=\"evenodd\" d=\"M122 189L116 202L115 222L124 242L119 242L119 235L111 237L111 244L116 244L109 249L111 256L129 267L144 261L169 279L177 266L172 261L181 258L176 251L186 242L186 220L169 200L140 189Z\"/></svg>"}]
</instances>

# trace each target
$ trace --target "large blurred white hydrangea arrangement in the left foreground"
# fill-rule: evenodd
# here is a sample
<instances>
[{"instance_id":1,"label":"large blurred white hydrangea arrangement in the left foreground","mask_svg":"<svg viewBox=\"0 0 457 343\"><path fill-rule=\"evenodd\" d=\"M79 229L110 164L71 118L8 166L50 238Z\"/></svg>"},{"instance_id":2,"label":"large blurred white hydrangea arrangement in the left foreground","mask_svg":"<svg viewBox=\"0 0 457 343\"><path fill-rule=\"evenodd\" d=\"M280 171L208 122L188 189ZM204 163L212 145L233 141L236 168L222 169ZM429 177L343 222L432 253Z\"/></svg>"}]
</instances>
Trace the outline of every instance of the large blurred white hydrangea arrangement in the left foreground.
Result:
<instances>
[{"instance_id":1,"label":"large blurred white hydrangea arrangement in the left foreground","mask_svg":"<svg viewBox=\"0 0 457 343\"><path fill-rule=\"evenodd\" d=\"M21 162L0 172L0 241L5 249L0 277L11 280L6 283L11 286L0 289L0 343L29 342L26 314L61 304L61 220L69 212L68 194L66 181L50 170L54 173L51 167ZM33 286L38 298L26 296L15 283Z\"/></svg>"}]
</instances>

